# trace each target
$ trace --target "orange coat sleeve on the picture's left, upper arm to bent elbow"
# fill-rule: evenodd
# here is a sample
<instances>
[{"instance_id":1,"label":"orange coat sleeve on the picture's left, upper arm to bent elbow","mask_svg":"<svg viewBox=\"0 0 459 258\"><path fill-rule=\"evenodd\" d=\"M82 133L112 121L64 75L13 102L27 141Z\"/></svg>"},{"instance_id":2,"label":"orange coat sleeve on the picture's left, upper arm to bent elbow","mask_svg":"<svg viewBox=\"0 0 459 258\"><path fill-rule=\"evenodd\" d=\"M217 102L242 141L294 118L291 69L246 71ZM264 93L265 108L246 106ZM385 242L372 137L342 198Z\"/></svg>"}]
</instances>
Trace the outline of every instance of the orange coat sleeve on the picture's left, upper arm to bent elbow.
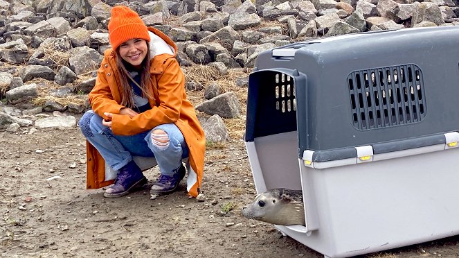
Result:
<instances>
[{"instance_id":1,"label":"orange coat sleeve on the picture's left, upper arm to bent elbow","mask_svg":"<svg viewBox=\"0 0 459 258\"><path fill-rule=\"evenodd\" d=\"M102 62L102 64L104 64L104 62ZM104 112L119 114L120 109L124 107L114 100L107 80L107 75L102 66L97 72L96 85L89 93L89 104L91 104L94 112L104 119L107 119Z\"/></svg>"}]
</instances>

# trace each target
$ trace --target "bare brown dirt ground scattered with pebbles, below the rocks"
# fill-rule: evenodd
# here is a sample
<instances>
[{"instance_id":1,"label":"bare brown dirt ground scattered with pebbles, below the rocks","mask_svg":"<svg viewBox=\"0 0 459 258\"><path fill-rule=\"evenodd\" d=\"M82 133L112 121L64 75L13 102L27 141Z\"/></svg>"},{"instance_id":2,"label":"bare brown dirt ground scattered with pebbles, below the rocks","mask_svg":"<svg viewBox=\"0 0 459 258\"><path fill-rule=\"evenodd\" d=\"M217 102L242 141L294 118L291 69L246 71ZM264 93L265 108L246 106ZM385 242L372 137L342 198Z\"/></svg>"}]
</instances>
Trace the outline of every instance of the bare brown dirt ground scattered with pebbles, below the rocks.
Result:
<instances>
[{"instance_id":1,"label":"bare brown dirt ground scattered with pebbles, below the rocks","mask_svg":"<svg viewBox=\"0 0 459 258\"><path fill-rule=\"evenodd\" d=\"M188 198L184 181L150 200L156 169L141 191L107 199L85 189L78 128L24 130L0 132L1 257L323 257L242 216L255 197L242 139L206 150L204 202ZM368 255L440 256L459 257L458 236Z\"/></svg>"}]
</instances>

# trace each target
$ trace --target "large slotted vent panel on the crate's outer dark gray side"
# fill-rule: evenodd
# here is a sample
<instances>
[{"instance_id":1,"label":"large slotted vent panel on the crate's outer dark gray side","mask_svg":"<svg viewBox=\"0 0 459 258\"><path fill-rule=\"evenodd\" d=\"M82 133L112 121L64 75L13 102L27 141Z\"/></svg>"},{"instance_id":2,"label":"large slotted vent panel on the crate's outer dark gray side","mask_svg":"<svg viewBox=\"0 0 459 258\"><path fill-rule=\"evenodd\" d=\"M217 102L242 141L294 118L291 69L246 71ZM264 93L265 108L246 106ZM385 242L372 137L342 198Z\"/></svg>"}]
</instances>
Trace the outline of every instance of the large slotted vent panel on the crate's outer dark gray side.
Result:
<instances>
[{"instance_id":1,"label":"large slotted vent panel on the crate's outer dark gray side","mask_svg":"<svg viewBox=\"0 0 459 258\"><path fill-rule=\"evenodd\" d=\"M416 65L354 71L348 89L352 124L359 130L416 123L425 117L424 81Z\"/></svg>"}]
</instances>

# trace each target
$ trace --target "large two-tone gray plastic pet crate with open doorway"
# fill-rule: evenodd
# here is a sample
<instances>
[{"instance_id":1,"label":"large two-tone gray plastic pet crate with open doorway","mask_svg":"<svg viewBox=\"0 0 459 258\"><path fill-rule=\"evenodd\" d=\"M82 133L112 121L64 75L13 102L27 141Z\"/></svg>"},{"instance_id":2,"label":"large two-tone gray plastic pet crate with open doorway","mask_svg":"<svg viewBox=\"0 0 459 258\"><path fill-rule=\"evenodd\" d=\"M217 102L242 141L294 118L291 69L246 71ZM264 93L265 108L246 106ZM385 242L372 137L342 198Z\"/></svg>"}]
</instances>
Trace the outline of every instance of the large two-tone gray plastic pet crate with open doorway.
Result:
<instances>
[{"instance_id":1,"label":"large two-tone gray plastic pet crate with open doorway","mask_svg":"<svg viewBox=\"0 0 459 258\"><path fill-rule=\"evenodd\" d=\"M278 230L325 257L459 234L459 26L264 51L245 144L258 193L303 190Z\"/></svg>"}]
</instances>

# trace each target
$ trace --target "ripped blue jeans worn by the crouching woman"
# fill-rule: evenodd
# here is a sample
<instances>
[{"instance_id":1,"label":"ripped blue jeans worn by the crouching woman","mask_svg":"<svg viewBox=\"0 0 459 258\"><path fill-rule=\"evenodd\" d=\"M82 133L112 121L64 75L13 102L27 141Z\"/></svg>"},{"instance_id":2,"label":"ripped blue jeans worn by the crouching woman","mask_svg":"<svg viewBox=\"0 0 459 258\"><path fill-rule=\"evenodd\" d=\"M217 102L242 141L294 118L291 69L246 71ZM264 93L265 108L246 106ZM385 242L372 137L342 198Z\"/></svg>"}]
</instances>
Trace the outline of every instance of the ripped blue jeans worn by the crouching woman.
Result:
<instances>
[{"instance_id":1,"label":"ripped blue jeans worn by the crouching woman","mask_svg":"<svg viewBox=\"0 0 459 258\"><path fill-rule=\"evenodd\" d=\"M102 117L89 110L83 114L79 124L84 137L114 171L129 163L132 156L143 156L155 157L161 174L174 175L181 166L181 159L188 157L185 139L173 123L156 126L138 135L114 135L110 128L102 125ZM165 135L152 133L157 129Z\"/></svg>"}]
</instances>

